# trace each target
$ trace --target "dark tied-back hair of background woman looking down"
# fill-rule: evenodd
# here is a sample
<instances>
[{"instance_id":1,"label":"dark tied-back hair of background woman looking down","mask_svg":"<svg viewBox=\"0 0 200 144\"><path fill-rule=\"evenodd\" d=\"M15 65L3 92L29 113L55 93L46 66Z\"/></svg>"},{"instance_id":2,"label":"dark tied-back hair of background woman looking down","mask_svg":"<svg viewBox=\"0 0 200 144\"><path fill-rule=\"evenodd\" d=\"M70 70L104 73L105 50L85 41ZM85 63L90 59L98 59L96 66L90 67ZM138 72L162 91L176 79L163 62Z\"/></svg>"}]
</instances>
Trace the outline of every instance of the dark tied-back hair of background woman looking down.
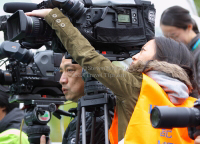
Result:
<instances>
[{"instance_id":1,"label":"dark tied-back hair of background woman looking down","mask_svg":"<svg viewBox=\"0 0 200 144\"><path fill-rule=\"evenodd\" d=\"M199 33L197 24L189 11L180 6L173 6L166 9L161 15L160 24L175 26L184 30L187 29L189 24L192 24L193 31L196 34Z\"/></svg>"}]
</instances>

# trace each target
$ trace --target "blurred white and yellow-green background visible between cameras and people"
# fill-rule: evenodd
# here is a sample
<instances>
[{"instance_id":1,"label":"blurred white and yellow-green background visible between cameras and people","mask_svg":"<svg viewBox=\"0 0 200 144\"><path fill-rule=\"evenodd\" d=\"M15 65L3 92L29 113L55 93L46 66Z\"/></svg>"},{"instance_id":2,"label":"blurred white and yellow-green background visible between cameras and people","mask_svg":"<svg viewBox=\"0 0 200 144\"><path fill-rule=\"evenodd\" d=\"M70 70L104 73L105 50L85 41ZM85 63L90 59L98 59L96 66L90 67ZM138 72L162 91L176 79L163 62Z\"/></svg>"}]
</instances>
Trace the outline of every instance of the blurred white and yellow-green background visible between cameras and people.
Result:
<instances>
[{"instance_id":1,"label":"blurred white and yellow-green background visible between cameras and people","mask_svg":"<svg viewBox=\"0 0 200 144\"><path fill-rule=\"evenodd\" d=\"M117 0L116 0L117 1ZM155 22L155 35L162 36L162 32L160 29L160 16L162 12L168 7L179 5L188 9L192 15L192 17L197 22L198 27L200 28L200 0L148 0L154 3L156 8L156 22ZM11 15L10 13L5 13L3 11L3 5L7 2L32 2L32 3L40 3L42 0L1 0L0 1L0 13L1 15ZM4 41L3 32L0 31L0 43ZM45 48L41 48L40 50L44 50ZM36 52L36 50L34 50ZM131 59L125 60L124 62L115 62L117 65L122 67L128 67ZM5 69L5 65L2 65L0 69ZM69 108L76 107L75 103L70 103L64 106L60 106L60 109L68 111ZM61 120L58 120L54 116L48 125L51 127L50 138L54 144L61 143L62 135L64 134L65 129L67 128L69 122L72 120L70 117L63 117Z\"/></svg>"}]
</instances>

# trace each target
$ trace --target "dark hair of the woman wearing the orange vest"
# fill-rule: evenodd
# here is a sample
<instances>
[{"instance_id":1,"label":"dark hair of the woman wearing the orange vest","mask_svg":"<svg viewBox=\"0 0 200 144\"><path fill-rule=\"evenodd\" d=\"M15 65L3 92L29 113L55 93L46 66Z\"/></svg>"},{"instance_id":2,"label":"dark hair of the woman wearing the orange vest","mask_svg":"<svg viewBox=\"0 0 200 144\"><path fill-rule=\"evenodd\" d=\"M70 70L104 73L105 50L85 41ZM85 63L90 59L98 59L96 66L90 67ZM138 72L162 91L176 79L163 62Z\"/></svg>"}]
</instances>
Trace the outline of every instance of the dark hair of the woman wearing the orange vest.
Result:
<instances>
[{"instance_id":1,"label":"dark hair of the woman wearing the orange vest","mask_svg":"<svg viewBox=\"0 0 200 144\"><path fill-rule=\"evenodd\" d=\"M194 60L187 46L182 42L177 42L171 38L166 37L155 37L155 43L156 54L154 59L159 61L166 61L171 64L177 64L183 68L190 78L190 82L192 83L194 89L193 91L196 92L195 97L197 97L197 84L194 80L193 74Z\"/></svg>"}]
</instances>

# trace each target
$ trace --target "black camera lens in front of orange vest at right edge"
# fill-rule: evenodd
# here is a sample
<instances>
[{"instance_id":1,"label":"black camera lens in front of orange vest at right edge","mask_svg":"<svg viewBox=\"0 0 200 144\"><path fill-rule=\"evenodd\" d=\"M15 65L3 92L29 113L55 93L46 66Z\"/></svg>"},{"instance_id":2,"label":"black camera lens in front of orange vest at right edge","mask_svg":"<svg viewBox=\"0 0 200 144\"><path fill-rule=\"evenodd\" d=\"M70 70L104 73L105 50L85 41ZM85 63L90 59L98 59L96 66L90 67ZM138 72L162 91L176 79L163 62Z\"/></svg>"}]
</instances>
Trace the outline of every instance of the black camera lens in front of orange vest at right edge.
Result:
<instances>
[{"instance_id":1,"label":"black camera lens in front of orange vest at right edge","mask_svg":"<svg viewBox=\"0 0 200 144\"><path fill-rule=\"evenodd\" d=\"M200 125L200 99L192 108L156 106L151 111L150 120L154 128L188 127L189 136L194 139L195 127Z\"/></svg>"}]
</instances>

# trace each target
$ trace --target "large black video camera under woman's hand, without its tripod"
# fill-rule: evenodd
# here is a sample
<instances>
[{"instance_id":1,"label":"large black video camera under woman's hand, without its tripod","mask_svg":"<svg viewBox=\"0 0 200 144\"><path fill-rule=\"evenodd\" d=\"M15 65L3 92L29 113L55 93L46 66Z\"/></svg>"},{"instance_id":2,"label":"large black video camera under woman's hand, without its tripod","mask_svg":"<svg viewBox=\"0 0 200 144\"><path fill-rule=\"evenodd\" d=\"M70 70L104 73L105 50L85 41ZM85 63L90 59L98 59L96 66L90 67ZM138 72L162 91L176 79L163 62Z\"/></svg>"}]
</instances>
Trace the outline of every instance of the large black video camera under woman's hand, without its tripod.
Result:
<instances>
[{"instance_id":1,"label":"large black video camera under woman's hand, without its tripod","mask_svg":"<svg viewBox=\"0 0 200 144\"><path fill-rule=\"evenodd\" d=\"M154 37L155 9L150 1L47 0L36 6L55 7L70 18L96 50L130 52ZM24 47L39 48L51 41L54 51L66 51L44 19L26 16L22 10L8 18L7 35L8 40L19 40Z\"/></svg>"}]
</instances>

